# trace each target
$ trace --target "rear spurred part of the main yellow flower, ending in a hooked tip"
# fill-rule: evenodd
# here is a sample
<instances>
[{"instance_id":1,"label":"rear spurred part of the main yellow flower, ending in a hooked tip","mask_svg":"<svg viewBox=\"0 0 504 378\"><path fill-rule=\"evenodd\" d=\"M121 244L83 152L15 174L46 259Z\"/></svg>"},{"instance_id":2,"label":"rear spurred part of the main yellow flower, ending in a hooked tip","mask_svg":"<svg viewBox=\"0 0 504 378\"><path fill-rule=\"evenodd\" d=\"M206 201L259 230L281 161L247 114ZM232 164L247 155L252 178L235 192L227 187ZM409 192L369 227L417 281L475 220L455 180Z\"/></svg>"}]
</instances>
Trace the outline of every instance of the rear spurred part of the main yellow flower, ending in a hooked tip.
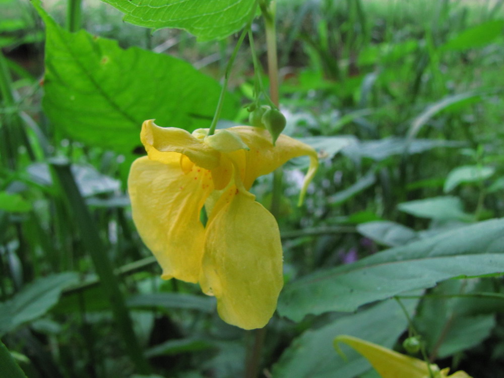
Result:
<instances>
[{"instance_id":1,"label":"rear spurred part of the main yellow flower, ending in a hooked tip","mask_svg":"<svg viewBox=\"0 0 504 378\"><path fill-rule=\"evenodd\" d=\"M240 171L243 172L243 185L247 190L257 177L273 172L292 158L308 155L310 167L301 191L302 200L306 187L319 165L317 152L312 147L284 134L278 137L275 146L273 146L267 130L251 126L236 126L228 130L239 135L250 148L250 151L240 150L229 154L240 167Z\"/></svg>"}]
</instances>

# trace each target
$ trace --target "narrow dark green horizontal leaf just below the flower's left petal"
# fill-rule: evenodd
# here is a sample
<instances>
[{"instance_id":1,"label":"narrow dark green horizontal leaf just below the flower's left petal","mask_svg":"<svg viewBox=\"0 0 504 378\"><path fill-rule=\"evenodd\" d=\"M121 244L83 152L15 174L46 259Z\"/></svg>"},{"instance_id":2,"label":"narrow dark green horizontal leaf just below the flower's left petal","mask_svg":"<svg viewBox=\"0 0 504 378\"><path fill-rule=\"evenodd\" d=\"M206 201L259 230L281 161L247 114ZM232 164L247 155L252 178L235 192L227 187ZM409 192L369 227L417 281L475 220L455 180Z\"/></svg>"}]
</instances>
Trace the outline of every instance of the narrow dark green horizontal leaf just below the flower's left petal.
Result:
<instances>
[{"instance_id":1,"label":"narrow dark green horizontal leaf just below the flower's left petal","mask_svg":"<svg viewBox=\"0 0 504 378\"><path fill-rule=\"evenodd\" d=\"M133 308L183 308L203 312L215 310L215 298L181 293L138 294L128 298Z\"/></svg>"}]
</instances>

